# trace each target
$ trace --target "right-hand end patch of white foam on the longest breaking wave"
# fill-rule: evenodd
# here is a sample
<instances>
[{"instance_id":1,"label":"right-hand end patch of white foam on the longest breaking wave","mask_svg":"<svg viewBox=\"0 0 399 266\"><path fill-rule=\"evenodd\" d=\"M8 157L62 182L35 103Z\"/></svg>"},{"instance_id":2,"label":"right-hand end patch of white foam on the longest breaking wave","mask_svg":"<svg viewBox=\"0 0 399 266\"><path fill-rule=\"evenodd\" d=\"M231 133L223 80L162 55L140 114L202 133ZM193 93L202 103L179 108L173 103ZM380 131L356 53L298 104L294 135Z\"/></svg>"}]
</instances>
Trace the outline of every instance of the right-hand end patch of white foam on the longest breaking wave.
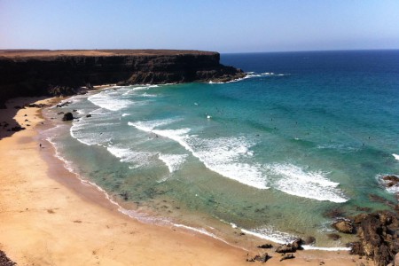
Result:
<instances>
[{"instance_id":1,"label":"right-hand end patch of white foam on the longest breaking wave","mask_svg":"<svg viewBox=\"0 0 399 266\"><path fill-rule=\"evenodd\" d=\"M305 171L292 164L273 164L266 166L270 172L279 176L274 186L281 192L308 198L312 200L329 200L332 202L346 202L348 198L322 171Z\"/></svg>"}]
</instances>

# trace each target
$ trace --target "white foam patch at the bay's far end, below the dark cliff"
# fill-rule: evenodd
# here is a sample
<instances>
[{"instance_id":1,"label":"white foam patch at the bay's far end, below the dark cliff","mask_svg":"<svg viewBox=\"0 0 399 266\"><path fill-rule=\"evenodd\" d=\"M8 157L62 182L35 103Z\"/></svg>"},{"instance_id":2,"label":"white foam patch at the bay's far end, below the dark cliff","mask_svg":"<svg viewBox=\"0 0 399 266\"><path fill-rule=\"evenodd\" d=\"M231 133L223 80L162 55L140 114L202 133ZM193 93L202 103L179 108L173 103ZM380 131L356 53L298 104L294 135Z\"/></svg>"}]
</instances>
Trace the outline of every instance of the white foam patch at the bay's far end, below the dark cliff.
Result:
<instances>
[{"instance_id":1,"label":"white foam patch at the bay's far end, below the dark cliff","mask_svg":"<svg viewBox=\"0 0 399 266\"><path fill-rule=\"evenodd\" d=\"M91 103L110 111L119 111L132 104L128 99L117 98L119 94L110 92L111 90L103 90L98 94L94 94L87 98Z\"/></svg>"}]
</instances>

